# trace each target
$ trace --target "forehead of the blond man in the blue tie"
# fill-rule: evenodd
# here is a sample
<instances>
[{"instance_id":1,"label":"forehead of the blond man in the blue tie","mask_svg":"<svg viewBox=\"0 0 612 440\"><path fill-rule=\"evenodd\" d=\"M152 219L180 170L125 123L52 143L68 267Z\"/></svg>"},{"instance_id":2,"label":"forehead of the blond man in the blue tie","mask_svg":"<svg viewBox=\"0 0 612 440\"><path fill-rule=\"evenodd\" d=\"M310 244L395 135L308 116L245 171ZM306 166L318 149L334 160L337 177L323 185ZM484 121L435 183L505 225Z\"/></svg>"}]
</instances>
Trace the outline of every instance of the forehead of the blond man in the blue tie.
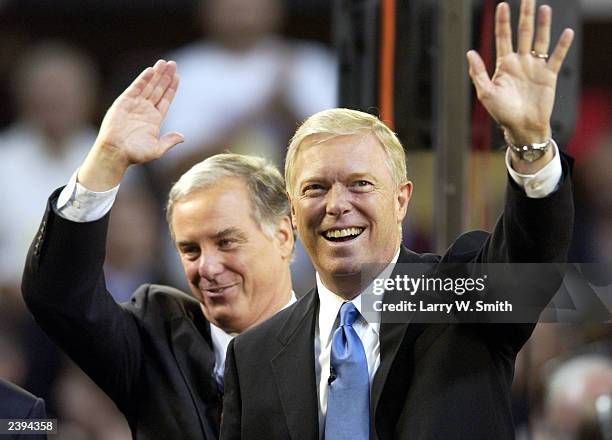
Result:
<instances>
[{"instance_id":1,"label":"forehead of the blond man in the blue tie","mask_svg":"<svg viewBox=\"0 0 612 440\"><path fill-rule=\"evenodd\" d=\"M368 174L380 179L391 178L387 153L371 133L307 137L298 151L293 175L294 183L314 178L344 177Z\"/></svg>"}]
</instances>

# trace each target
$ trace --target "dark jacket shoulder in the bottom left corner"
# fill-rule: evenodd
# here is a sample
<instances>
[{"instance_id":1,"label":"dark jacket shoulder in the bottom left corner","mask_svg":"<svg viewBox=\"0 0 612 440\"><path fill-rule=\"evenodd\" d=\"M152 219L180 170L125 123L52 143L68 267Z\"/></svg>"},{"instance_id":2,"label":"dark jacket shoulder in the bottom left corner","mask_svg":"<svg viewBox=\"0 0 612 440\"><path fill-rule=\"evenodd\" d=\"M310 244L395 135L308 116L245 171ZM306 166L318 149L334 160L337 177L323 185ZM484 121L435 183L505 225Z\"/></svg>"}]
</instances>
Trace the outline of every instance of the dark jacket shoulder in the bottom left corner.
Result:
<instances>
[{"instance_id":1,"label":"dark jacket shoulder in the bottom left corner","mask_svg":"<svg viewBox=\"0 0 612 440\"><path fill-rule=\"evenodd\" d=\"M46 419L45 402L17 385L0 379L0 419ZM8 435L4 439L46 440L46 434Z\"/></svg>"}]
</instances>

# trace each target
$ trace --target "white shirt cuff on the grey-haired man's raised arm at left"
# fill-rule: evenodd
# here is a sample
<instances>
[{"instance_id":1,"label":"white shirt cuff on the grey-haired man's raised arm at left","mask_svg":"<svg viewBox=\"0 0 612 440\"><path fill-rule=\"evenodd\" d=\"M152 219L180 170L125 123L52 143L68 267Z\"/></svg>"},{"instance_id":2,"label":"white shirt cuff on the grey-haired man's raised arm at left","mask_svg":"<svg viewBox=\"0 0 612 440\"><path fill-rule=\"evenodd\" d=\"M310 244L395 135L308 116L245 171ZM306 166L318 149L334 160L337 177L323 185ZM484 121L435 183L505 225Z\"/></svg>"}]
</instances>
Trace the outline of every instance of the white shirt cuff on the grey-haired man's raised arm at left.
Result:
<instances>
[{"instance_id":1,"label":"white shirt cuff on the grey-haired man's raised arm at left","mask_svg":"<svg viewBox=\"0 0 612 440\"><path fill-rule=\"evenodd\" d=\"M57 212L66 220L85 223L93 222L104 217L113 207L119 185L108 191L91 191L77 182L74 172L68 184L64 187L57 199Z\"/></svg>"}]
</instances>

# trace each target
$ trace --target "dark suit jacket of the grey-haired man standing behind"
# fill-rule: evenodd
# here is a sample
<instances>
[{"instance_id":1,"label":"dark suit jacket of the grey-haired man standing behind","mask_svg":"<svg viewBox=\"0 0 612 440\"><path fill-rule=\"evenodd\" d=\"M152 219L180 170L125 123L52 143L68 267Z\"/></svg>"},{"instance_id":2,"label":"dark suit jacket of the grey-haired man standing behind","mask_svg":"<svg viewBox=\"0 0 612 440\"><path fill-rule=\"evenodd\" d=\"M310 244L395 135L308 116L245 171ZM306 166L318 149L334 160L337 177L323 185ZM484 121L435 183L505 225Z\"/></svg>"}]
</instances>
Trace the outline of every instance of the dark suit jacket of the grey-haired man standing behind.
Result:
<instances>
[{"instance_id":1,"label":"dark suit jacket of the grey-haired man standing behind","mask_svg":"<svg viewBox=\"0 0 612 440\"><path fill-rule=\"evenodd\" d=\"M221 397L199 303L144 285L117 304L104 283L108 215L68 221L49 199L22 281L43 330L125 414L134 438L216 439Z\"/></svg>"}]
</instances>

